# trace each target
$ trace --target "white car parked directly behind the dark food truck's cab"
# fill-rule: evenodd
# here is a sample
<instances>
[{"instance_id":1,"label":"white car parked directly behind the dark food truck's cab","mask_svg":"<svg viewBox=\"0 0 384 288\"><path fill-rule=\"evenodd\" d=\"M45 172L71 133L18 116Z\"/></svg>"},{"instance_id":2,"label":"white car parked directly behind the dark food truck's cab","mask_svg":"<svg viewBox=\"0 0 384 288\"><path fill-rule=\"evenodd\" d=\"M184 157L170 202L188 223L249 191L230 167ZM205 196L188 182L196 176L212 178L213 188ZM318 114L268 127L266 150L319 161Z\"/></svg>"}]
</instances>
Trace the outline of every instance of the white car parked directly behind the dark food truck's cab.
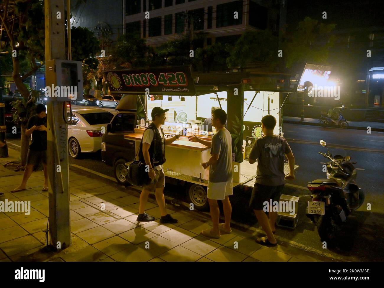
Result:
<instances>
[{"instance_id":1,"label":"white car parked directly behind the dark food truck's cab","mask_svg":"<svg viewBox=\"0 0 384 288\"><path fill-rule=\"evenodd\" d=\"M68 149L72 158L80 152L96 152L101 149L101 136L111 122L113 114L103 109L79 108L72 110L68 124Z\"/></svg>"}]
</instances>

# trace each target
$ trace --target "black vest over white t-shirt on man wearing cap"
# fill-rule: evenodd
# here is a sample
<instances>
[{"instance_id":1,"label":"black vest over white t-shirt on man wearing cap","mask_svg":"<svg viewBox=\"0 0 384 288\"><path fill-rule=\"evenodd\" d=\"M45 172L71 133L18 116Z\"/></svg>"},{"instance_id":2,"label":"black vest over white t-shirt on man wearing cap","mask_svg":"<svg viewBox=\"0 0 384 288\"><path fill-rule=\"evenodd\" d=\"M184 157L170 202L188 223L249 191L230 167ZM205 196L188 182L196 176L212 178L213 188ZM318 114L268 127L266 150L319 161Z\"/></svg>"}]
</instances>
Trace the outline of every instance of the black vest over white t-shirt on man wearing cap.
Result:
<instances>
[{"instance_id":1,"label":"black vest over white t-shirt on man wearing cap","mask_svg":"<svg viewBox=\"0 0 384 288\"><path fill-rule=\"evenodd\" d=\"M165 151L165 143L164 143L164 150L162 149L162 137L159 133L159 130L157 130L155 124L151 123L147 129L152 129L154 131L153 134L153 140L151 143L151 146L149 146L149 158L151 159L151 164L153 167L162 165L164 162L166 162L166 151ZM147 131L146 129L146 131ZM163 133L163 129L161 129L161 133ZM143 133L144 136L144 133ZM141 163L146 163L144 160L144 155L142 152L143 147L143 140L141 139L140 148L139 148L139 160Z\"/></svg>"}]
</instances>

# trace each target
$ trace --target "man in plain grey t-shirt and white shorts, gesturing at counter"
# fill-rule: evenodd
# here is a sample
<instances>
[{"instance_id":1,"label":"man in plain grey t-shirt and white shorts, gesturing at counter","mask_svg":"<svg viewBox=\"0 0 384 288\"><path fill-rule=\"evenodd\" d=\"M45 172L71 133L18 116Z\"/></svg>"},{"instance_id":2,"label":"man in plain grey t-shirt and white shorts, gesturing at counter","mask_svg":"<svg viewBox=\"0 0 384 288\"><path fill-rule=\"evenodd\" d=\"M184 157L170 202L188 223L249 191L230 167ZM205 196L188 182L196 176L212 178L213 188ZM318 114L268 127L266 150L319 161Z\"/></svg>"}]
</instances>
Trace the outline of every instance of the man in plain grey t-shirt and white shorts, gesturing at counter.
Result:
<instances>
[{"instance_id":1,"label":"man in plain grey t-shirt and white shorts, gesturing at counter","mask_svg":"<svg viewBox=\"0 0 384 288\"><path fill-rule=\"evenodd\" d=\"M228 196L232 195L232 137L227 129L227 113L222 109L213 111L212 126L217 130L212 137L212 142L205 141L197 136L189 137L190 141L200 142L211 147L211 157L208 162L202 163L204 169L210 167L207 198L213 222L212 229L201 232L209 238L220 238L220 232L231 233L232 206ZM217 200L222 200L225 223L219 224L220 209Z\"/></svg>"}]
</instances>

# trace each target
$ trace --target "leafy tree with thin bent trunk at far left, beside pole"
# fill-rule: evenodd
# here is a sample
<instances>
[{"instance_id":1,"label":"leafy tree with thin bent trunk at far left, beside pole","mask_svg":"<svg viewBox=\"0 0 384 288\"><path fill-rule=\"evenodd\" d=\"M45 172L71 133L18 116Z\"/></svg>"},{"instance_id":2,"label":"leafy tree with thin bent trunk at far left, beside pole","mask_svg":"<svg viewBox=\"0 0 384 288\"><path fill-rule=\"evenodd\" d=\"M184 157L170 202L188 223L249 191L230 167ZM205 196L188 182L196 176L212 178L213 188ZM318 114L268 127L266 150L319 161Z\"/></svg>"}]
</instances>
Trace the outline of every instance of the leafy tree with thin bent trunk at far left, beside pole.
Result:
<instances>
[{"instance_id":1,"label":"leafy tree with thin bent trunk at far left, beside pole","mask_svg":"<svg viewBox=\"0 0 384 288\"><path fill-rule=\"evenodd\" d=\"M28 103L30 92L23 81L36 72L44 61L44 6L43 1L4 0L0 4L0 50L7 57L12 57L12 78L23 96L23 101ZM3 57L3 56L2 56ZM36 60L40 65L36 64ZM28 71L22 70L22 63L28 64ZM34 104L34 103L33 103ZM21 165L26 162L28 151L28 137L25 135L26 124L30 118L31 110L26 111L26 117L21 121Z\"/></svg>"}]
</instances>

